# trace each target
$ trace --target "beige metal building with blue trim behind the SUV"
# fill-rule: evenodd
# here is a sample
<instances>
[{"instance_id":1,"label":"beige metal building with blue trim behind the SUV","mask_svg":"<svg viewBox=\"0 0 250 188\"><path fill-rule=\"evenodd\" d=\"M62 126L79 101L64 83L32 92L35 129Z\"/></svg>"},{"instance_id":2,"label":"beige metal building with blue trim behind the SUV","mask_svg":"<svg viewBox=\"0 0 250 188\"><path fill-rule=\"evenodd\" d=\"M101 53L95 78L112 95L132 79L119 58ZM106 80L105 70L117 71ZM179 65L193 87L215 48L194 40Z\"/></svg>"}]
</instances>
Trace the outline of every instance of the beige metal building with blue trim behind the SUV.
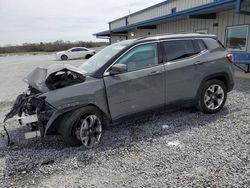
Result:
<instances>
[{"instance_id":1,"label":"beige metal building with blue trim behind the SUV","mask_svg":"<svg viewBox=\"0 0 250 188\"><path fill-rule=\"evenodd\" d=\"M250 52L250 0L165 0L109 22L110 43L162 33L215 34L231 51Z\"/></svg>"}]
</instances>

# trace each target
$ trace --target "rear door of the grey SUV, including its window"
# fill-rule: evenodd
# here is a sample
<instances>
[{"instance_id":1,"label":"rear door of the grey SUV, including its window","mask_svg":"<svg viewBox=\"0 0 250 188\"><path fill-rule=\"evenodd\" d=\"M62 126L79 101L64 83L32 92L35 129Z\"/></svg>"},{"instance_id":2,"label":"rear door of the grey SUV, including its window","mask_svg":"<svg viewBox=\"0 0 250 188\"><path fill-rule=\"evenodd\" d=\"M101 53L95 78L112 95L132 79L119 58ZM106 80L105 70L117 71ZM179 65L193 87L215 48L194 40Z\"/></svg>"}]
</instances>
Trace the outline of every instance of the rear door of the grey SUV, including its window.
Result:
<instances>
[{"instance_id":1,"label":"rear door of the grey SUV, including its window","mask_svg":"<svg viewBox=\"0 0 250 188\"><path fill-rule=\"evenodd\" d=\"M166 104L194 99L201 76L197 68L206 62L205 50L193 39L162 42L165 50Z\"/></svg>"}]
</instances>

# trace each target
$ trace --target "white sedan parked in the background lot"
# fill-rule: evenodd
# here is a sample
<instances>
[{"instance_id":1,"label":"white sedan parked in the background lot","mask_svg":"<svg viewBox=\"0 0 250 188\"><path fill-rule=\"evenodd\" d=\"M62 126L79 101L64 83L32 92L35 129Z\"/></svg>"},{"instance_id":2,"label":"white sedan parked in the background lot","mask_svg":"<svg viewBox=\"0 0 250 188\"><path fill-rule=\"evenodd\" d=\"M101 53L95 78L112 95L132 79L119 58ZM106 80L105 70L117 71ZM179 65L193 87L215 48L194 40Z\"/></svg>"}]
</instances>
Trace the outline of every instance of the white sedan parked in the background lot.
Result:
<instances>
[{"instance_id":1,"label":"white sedan parked in the background lot","mask_svg":"<svg viewBox=\"0 0 250 188\"><path fill-rule=\"evenodd\" d=\"M66 61L68 59L88 59L95 54L95 50L90 50L84 47L70 48L66 51L61 51L56 53L57 60Z\"/></svg>"}]
</instances>

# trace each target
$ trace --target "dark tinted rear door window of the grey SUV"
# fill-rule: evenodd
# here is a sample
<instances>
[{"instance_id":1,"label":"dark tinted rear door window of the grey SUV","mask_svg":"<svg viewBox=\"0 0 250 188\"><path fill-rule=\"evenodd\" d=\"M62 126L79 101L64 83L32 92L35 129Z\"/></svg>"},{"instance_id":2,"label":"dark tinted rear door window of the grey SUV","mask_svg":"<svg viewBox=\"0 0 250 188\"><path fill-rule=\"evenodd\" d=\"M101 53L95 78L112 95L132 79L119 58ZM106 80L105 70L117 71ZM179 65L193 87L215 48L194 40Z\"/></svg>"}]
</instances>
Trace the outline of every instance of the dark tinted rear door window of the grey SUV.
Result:
<instances>
[{"instance_id":1,"label":"dark tinted rear door window of the grey SUV","mask_svg":"<svg viewBox=\"0 0 250 188\"><path fill-rule=\"evenodd\" d=\"M184 59L197 54L192 40L176 40L163 42L167 61Z\"/></svg>"}]
</instances>

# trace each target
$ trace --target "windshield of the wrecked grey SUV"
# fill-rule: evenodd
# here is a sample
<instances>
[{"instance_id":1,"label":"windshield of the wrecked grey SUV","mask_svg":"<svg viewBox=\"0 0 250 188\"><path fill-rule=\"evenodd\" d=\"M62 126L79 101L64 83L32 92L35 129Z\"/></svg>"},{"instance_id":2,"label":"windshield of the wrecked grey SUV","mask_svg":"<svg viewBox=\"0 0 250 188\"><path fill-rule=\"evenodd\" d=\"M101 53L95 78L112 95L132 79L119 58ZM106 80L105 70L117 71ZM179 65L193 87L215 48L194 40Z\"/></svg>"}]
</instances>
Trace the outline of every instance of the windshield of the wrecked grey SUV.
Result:
<instances>
[{"instance_id":1,"label":"windshield of the wrecked grey SUV","mask_svg":"<svg viewBox=\"0 0 250 188\"><path fill-rule=\"evenodd\" d=\"M103 65L105 65L112 57L118 54L123 48L132 44L133 41L134 40L126 40L112 44L98 52L89 60L85 61L79 68L82 69L84 72L94 73Z\"/></svg>"}]
</instances>

